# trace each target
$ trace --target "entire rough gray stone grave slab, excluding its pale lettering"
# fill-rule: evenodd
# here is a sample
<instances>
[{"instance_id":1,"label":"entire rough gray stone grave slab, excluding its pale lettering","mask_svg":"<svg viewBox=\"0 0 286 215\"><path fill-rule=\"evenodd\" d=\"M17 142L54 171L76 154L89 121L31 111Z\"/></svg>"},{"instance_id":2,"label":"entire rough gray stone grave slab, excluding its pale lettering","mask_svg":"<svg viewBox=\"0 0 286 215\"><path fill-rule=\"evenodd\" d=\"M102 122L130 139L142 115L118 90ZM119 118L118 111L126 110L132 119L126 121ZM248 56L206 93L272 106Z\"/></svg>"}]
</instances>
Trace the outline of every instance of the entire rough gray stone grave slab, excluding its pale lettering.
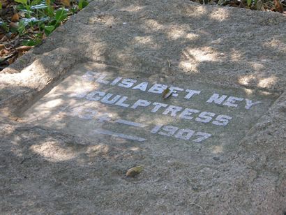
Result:
<instances>
[{"instance_id":1,"label":"entire rough gray stone grave slab, excluding its pale lettering","mask_svg":"<svg viewBox=\"0 0 286 215\"><path fill-rule=\"evenodd\" d=\"M278 13L189 1L93 1L0 73L1 212L286 212L285 21ZM186 91L163 100L159 94L94 80L78 84L93 69L202 92L195 103L188 103ZM75 97L89 86L130 101L142 96L234 119L224 127L213 125L213 119L200 126L147 107L130 111L91 103L86 95ZM263 105L254 105L250 112L244 105L208 105L205 101L214 91ZM68 97L70 92L75 94ZM88 119L90 115L61 109L83 104L137 123L164 121L218 135L186 144L150 133L151 126L142 131L126 125L104 127L97 118ZM146 140L90 135L96 128ZM136 165L144 165L143 172L127 178L126 170Z\"/></svg>"}]
</instances>

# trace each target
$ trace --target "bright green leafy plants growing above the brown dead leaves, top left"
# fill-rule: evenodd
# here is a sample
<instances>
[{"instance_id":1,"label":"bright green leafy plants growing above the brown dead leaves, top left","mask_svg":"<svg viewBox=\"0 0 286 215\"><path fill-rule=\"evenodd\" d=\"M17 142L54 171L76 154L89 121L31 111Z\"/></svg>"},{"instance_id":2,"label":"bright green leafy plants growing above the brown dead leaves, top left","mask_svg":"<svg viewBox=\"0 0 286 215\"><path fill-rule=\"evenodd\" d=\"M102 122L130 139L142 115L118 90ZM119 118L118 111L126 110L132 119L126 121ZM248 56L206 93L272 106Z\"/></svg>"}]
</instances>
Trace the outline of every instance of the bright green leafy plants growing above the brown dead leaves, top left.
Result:
<instances>
[{"instance_id":1,"label":"bright green leafy plants growing above the brown dead leaves, top left","mask_svg":"<svg viewBox=\"0 0 286 215\"><path fill-rule=\"evenodd\" d=\"M17 2L17 10L21 12L24 17L20 18L17 28L9 29L6 22L0 22L0 27L5 31L13 31L20 36L29 35L27 40L22 41L22 45L38 45L41 42L43 35L50 35L54 29L57 29L62 22L66 20L68 15L77 13L78 10L86 7L89 2L86 0L79 0L77 6L74 4L70 6L68 1L68 8L61 6L57 10L54 9L55 0L15 0ZM37 33L33 34L34 29ZM38 34L40 31L41 34ZM43 33L42 33L43 32Z\"/></svg>"}]
</instances>

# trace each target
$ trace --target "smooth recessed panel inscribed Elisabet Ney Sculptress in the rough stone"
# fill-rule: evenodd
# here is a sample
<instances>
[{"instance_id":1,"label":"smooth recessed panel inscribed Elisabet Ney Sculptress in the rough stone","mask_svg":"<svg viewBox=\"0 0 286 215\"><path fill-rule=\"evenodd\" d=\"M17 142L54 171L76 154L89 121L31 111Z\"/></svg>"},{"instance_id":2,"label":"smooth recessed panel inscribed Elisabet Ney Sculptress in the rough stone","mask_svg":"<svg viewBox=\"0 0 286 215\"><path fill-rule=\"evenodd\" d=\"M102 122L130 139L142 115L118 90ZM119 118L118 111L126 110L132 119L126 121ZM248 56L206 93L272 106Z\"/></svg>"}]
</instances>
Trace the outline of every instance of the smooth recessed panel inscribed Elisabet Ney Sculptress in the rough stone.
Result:
<instances>
[{"instance_id":1,"label":"smooth recessed panel inscribed Elisabet Ney Sculptress in the rough stone","mask_svg":"<svg viewBox=\"0 0 286 215\"><path fill-rule=\"evenodd\" d=\"M167 88L172 94L163 98ZM266 91L82 64L24 117L89 139L184 144L204 157L235 149L276 98Z\"/></svg>"}]
</instances>

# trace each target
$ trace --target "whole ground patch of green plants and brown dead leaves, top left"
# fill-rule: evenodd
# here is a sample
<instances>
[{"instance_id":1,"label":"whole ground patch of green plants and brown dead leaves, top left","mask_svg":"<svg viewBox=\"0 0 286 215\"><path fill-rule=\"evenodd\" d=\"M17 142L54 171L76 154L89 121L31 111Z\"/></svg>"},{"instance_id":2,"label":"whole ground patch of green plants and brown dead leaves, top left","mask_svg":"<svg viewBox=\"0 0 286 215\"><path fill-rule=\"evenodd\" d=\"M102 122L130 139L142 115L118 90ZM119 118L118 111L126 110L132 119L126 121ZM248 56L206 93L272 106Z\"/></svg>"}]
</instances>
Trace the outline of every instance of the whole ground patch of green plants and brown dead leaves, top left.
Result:
<instances>
[{"instance_id":1,"label":"whole ground patch of green plants and brown dead leaves, top left","mask_svg":"<svg viewBox=\"0 0 286 215\"><path fill-rule=\"evenodd\" d=\"M0 71L82 10L86 0L0 0Z\"/></svg>"}]
</instances>

